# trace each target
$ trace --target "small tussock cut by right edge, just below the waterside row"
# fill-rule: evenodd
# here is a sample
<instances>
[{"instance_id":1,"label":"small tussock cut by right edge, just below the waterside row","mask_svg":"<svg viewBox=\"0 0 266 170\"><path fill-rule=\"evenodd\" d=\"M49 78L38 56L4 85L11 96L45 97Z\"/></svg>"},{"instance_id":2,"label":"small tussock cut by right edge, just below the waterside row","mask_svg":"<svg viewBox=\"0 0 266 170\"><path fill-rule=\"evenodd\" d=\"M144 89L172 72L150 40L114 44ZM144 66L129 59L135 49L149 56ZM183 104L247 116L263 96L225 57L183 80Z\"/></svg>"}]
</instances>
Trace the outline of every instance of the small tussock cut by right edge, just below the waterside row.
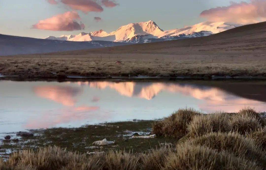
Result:
<instances>
[{"instance_id":1,"label":"small tussock cut by right edge, just below the waterside row","mask_svg":"<svg viewBox=\"0 0 266 170\"><path fill-rule=\"evenodd\" d=\"M266 150L266 127L250 133L248 138L253 139L255 145L258 145L263 150Z\"/></svg>"}]
</instances>

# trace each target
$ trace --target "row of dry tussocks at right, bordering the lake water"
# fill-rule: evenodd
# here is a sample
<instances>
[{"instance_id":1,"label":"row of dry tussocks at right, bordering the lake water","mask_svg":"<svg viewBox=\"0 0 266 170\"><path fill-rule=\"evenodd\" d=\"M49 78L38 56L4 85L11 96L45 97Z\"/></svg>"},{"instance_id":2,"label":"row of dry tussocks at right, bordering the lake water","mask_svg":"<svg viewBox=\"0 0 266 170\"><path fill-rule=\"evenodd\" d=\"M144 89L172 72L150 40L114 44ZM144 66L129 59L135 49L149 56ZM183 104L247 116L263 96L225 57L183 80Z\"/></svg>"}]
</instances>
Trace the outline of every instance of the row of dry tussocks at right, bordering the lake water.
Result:
<instances>
[{"instance_id":1,"label":"row of dry tussocks at right, bordering the lake water","mask_svg":"<svg viewBox=\"0 0 266 170\"><path fill-rule=\"evenodd\" d=\"M189 138L199 137L211 132L236 131L245 135L264 125L263 119L254 109L242 109L235 114L215 112L202 114L193 109L181 109L156 121L153 125L153 134L170 138L181 139L182 143Z\"/></svg>"}]
</instances>

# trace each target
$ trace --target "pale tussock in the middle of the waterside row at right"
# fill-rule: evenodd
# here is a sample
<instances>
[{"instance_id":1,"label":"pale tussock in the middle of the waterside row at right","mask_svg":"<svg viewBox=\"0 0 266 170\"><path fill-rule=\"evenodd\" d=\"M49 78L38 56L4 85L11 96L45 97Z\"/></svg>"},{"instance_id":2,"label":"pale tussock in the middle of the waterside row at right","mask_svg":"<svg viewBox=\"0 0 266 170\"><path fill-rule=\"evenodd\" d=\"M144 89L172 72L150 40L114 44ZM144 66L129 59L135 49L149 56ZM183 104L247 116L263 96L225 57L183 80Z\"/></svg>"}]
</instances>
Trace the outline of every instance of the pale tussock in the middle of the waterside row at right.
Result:
<instances>
[{"instance_id":1,"label":"pale tussock in the middle of the waterside row at right","mask_svg":"<svg viewBox=\"0 0 266 170\"><path fill-rule=\"evenodd\" d=\"M230 115L223 112L195 116L188 125L191 137L201 136L210 132L229 132L231 127L228 123Z\"/></svg>"}]
</instances>

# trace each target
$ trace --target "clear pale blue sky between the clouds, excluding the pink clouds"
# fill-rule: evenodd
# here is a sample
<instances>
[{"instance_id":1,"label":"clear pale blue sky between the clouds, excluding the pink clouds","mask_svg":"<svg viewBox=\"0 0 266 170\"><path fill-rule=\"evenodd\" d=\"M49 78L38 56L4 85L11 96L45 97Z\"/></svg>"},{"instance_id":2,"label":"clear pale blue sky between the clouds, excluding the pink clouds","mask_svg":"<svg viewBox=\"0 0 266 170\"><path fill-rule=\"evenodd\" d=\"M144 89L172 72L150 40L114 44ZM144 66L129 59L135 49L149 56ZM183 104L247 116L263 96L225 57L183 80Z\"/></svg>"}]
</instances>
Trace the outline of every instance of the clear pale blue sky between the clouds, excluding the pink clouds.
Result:
<instances>
[{"instance_id":1,"label":"clear pale blue sky between the clouds, excluding the pink clouds","mask_svg":"<svg viewBox=\"0 0 266 170\"><path fill-rule=\"evenodd\" d=\"M103 29L106 32L115 31L121 25L140 21L153 20L164 30L183 28L205 21L200 13L218 6L230 6L231 0L117 0L118 6L103 7L102 12L88 12L84 14L77 11L84 30L51 31L32 29L32 25L51 18L54 15L72 11L62 3L51 5L47 0L1 0L0 1L0 33L16 36L43 38L47 36L60 36L63 34L78 34L82 31L91 32ZM233 1L239 3L240 1ZM246 0L246 2L249 2ZM102 21L94 21L94 17Z\"/></svg>"}]
</instances>

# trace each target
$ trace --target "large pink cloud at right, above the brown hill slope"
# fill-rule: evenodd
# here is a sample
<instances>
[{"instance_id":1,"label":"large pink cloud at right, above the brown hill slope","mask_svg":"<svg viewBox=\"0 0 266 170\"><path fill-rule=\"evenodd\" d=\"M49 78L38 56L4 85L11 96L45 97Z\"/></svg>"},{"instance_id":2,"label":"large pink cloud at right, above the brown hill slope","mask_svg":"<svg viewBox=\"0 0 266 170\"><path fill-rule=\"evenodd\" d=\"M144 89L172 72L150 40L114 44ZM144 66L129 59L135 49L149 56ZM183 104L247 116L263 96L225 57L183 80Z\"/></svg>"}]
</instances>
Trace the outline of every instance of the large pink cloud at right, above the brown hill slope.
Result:
<instances>
[{"instance_id":1,"label":"large pink cloud at right, above the brown hill slope","mask_svg":"<svg viewBox=\"0 0 266 170\"><path fill-rule=\"evenodd\" d=\"M251 0L251 2L231 2L229 6L211 8L201 12L201 17L210 21L227 21L250 24L266 19L266 1Z\"/></svg>"}]
</instances>

